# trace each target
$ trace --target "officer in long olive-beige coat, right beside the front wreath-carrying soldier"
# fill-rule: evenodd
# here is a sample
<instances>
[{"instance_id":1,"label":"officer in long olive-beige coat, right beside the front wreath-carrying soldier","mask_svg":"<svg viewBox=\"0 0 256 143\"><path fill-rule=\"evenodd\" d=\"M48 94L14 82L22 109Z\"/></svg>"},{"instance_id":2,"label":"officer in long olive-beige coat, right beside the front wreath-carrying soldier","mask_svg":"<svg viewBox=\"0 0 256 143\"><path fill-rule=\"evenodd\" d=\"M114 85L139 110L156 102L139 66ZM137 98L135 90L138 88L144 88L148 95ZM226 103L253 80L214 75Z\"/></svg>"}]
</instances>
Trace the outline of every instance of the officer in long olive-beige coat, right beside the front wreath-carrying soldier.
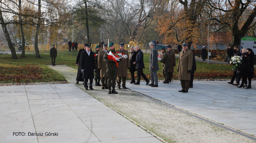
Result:
<instances>
[{"instance_id":1,"label":"officer in long olive-beige coat, right beside the front wreath-carrying soldier","mask_svg":"<svg viewBox=\"0 0 256 143\"><path fill-rule=\"evenodd\" d=\"M120 49L116 50L116 52L127 55L127 58L118 63L118 72L117 72L116 82L117 82L118 89L121 89L121 79L122 79L123 81L122 87L123 89L127 89L125 86L125 83L126 83L126 77L127 77L127 69L130 69L130 59L128 56L128 51L124 49L124 43L120 43L119 48Z\"/></svg>"}]
</instances>

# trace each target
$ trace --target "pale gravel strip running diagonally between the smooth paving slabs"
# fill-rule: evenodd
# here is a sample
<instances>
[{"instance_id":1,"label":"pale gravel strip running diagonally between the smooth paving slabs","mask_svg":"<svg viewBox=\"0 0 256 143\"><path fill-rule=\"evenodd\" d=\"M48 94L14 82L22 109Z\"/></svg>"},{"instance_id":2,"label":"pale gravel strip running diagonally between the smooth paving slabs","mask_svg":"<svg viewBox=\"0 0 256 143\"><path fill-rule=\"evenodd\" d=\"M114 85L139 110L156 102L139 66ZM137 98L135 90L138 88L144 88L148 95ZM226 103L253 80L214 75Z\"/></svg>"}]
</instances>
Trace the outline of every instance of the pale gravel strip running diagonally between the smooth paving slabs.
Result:
<instances>
[{"instance_id":1,"label":"pale gravel strip running diagonally between the smooth paving slabs","mask_svg":"<svg viewBox=\"0 0 256 143\"><path fill-rule=\"evenodd\" d=\"M49 67L59 71L70 82L76 82L74 69L65 65ZM84 90L82 82L75 85ZM102 90L99 86L93 86L93 88L94 90L85 92L166 142L255 143L244 136L140 97L127 90L116 89L118 94L108 94L107 89Z\"/></svg>"}]
</instances>

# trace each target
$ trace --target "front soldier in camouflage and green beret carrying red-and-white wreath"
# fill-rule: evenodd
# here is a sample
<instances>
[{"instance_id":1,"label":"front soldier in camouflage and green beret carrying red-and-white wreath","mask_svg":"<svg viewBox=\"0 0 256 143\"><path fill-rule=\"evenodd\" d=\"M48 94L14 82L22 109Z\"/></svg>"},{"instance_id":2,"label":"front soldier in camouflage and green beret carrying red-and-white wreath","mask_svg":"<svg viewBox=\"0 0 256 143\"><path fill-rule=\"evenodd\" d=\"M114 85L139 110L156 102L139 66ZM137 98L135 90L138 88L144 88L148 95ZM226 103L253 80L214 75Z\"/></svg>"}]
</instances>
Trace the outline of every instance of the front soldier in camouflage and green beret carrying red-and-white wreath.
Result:
<instances>
[{"instance_id":1,"label":"front soldier in camouflage and green beret carrying red-and-white wreath","mask_svg":"<svg viewBox=\"0 0 256 143\"><path fill-rule=\"evenodd\" d=\"M108 45L109 50L111 51L111 53L116 54L116 50L115 50L115 44L114 43L110 43ZM111 93L115 93L117 94L116 90L115 90L115 86L116 86L116 77L117 77L117 72L118 72L118 68L116 65L116 62L113 60L108 60L108 54L105 53L103 56L103 61L106 62L106 67L107 67L107 77L108 77L108 94ZM121 61L121 59L120 59ZM119 61L117 61L119 62ZM112 86L112 92L111 92L111 86Z\"/></svg>"}]
</instances>

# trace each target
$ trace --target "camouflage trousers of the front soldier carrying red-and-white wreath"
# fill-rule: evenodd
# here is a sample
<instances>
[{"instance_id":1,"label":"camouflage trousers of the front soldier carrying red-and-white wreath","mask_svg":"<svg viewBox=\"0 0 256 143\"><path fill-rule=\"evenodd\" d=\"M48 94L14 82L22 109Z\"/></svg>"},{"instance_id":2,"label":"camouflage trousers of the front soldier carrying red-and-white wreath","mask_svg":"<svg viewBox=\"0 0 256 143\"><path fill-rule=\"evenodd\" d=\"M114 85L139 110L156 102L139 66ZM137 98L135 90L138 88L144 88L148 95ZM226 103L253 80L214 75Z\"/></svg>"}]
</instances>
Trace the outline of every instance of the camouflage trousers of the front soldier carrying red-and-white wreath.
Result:
<instances>
[{"instance_id":1,"label":"camouflage trousers of the front soldier carrying red-and-white wreath","mask_svg":"<svg viewBox=\"0 0 256 143\"><path fill-rule=\"evenodd\" d=\"M107 67L107 77L108 77L108 86L116 85L116 77L117 77L118 68L117 67Z\"/></svg>"}]
</instances>

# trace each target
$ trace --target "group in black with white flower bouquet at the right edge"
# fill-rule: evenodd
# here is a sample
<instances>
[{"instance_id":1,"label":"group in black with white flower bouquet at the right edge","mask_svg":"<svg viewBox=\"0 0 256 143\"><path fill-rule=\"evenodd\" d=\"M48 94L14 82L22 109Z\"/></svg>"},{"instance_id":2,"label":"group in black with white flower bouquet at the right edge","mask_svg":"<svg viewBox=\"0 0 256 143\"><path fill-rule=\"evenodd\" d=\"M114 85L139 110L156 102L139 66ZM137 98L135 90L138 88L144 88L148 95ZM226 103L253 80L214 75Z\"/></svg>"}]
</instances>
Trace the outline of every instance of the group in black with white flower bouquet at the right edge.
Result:
<instances>
[{"instance_id":1,"label":"group in black with white flower bouquet at the right edge","mask_svg":"<svg viewBox=\"0 0 256 143\"><path fill-rule=\"evenodd\" d=\"M232 51L231 51L232 50ZM233 53L232 56L240 56L242 58L242 63L240 66L236 66L236 68L233 68L233 76L231 78L231 81L228 82L229 84L235 85L238 88L244 88L245 89L252 89L251 83L252 78L254 75L254 52L251 48L243 48L242 53L239 51L239 46L234 46L234 50L231 49L231 47L228 47L228 61L230 63L230 60L232 58L229 57L230 53ZM242 83L240 86L240 79L242 77ZM248 85L247 85L247 78L248 78ZM236 82L234 83L236 79Z\"/></svg>"}]
</instances>

